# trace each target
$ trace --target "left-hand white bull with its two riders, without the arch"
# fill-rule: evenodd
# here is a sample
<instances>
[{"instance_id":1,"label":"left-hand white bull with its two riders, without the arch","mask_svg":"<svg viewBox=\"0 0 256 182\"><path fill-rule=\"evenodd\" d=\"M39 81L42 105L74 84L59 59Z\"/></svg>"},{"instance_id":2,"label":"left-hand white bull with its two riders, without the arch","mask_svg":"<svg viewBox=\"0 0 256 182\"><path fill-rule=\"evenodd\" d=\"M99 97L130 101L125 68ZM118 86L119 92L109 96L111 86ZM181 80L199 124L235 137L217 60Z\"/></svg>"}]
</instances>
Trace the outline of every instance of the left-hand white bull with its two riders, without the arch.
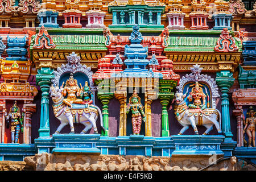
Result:
<instances>
[{"instance_id":1,"label":"left-hand white bull with its two riders, without the arch","mask_svg":"<svg viewBox=\"0 0 256 182\"><path fill-rule=\"evenodd\" d=\"M92 97L90 97L92 96L92 92L90 91L88 83L85 82L84 88L82 88L82 86L79 88L77 80L73 78L73 74L71 73L64 88L63 86L64 82L60 88L59 86L51 86L50 88L53 101L53 113L61 122L55 134L60 133L61 129L68 124L71 127L71 133L75 133L73 123L82 123L85 126L81 134L85 134L92 129L92 127L94 133L98 133L96 127L98 116L100 116L101 128L105 131L102 123L101 110L96 105L92 105ZM66 95L67 98L64 98Z\"/></svg>"}]
</instances>

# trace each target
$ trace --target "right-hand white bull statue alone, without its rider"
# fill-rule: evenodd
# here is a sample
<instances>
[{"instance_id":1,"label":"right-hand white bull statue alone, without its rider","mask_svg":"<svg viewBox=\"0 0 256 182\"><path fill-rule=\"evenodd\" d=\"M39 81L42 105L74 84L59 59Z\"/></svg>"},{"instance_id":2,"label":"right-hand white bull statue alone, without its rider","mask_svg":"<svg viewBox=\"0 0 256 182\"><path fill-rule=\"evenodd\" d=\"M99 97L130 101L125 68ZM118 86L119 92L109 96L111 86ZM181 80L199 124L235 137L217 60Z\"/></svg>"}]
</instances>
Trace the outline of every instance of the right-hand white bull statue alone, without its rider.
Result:
<instances>
[{"instance_id":1,"label":"right-hand white bull statue alone, without its rider","mask_svg":"<svg viewBox=\"0 0 256 182\"><path fill-rule=\"evenodd\" d=\"M175 106L174 113L177 121L183 126L178 135L182 135L189 125L192 125L195 134L199 135L197 127L203 125L207 128L203 135L207 135L213 129L213 125L219 134L224 135L221 131L221 113L217 109L208 108L204 109L202 113L189 112L188 106L184 101L185 95L180 92L175 93Z\"/></svg>"}]
</instances>

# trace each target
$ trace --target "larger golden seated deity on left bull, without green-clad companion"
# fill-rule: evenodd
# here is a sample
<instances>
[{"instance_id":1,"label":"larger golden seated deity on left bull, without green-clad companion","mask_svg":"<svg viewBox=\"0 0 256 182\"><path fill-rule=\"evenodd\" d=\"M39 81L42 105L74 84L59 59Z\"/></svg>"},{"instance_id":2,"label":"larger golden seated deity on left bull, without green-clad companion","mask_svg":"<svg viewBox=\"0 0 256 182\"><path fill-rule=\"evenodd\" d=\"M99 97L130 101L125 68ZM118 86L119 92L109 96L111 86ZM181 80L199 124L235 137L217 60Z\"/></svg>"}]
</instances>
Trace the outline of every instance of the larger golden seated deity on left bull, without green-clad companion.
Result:
<instances>
[{"instance_id":1,"label":"larger golden seated deity on left bull, without green-clad companion","mask_svg":"<svg viewBox=\"0 0 256 182\"><path fill-rule=\"evenodd\" d=\"M61 88L64 86L64 81L63 84L61 85ZM63 102L70 106L72 108L72 104L83 104L83 101L77 97L80 96L82 90L79 88L77 84L77 80L74 79L73 74L71 73L69 76L69 79L66 81L66 84L63 89L63 96L65 97L68 93L68 97L63 100Z\"/></svg>"}]
</instances>

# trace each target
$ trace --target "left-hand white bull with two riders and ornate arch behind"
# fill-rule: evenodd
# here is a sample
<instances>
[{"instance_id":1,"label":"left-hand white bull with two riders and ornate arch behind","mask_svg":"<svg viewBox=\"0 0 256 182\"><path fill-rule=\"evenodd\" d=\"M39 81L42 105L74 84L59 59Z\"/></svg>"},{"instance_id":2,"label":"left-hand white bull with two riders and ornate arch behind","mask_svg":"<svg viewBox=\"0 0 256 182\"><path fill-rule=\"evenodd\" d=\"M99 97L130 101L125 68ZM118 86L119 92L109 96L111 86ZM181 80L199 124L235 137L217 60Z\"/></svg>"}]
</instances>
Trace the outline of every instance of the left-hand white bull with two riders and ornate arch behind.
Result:
<instances>
[{"instance_id":1,"label":"left-hand white bull with two riders and ornate arch behind","mask_svg":"<svg viewBox=\"0 0 256 182\"><path fill-rule=\"evenodd\" d=\"M81 123L85 126L80 134L86 134L92 128L94 133L98 133L96 126L98 117L100 117L102 130L105 130L101 110L93 103L94 93L90 89L94 89L93 73L90 67L80 64L80 57L73 52L68 56L68 63L61 65L61 68L57 68L54 74L55 78L52 80L53 85L50 88L50 93L53 101L53 113L60 121L55 134L60 133L63 127L68 124L71 127L70 133L75 133L73 123ZM60 80L68 74L69 78L63 81L63 84L59 87ZM76 78L74 78L75 75ZM79 83L77 80L85 82L85 85L82 86L81 82Z\"/></svg>"}]
</instances>

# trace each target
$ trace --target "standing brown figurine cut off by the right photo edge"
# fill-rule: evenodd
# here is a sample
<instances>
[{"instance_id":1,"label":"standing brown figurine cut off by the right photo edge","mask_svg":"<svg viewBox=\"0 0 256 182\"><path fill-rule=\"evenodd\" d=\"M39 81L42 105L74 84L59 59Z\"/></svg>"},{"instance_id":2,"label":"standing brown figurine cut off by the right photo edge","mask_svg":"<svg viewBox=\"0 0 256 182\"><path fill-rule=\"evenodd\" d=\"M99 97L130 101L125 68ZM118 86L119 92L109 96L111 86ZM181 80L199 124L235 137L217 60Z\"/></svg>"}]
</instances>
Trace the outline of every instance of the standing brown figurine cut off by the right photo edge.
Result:
<instances>
[{"instance_id":1,"label":"standing brown figurine cut off by the right photo edge","mask_svg":"<svg viewBox=\"0 0 256 182\"><path fill-rule=\"evenodd\" d=\"M253 109L253 106L249 107L249 111L247 111L247 118L245 120L245 127L243 128L243 134L248 135L248 147L251 146L251 142L253 142L253 147L255 147L255 123L256 123L256 117L255 117L255 111Z\"/></svg>"}]
</instances>

